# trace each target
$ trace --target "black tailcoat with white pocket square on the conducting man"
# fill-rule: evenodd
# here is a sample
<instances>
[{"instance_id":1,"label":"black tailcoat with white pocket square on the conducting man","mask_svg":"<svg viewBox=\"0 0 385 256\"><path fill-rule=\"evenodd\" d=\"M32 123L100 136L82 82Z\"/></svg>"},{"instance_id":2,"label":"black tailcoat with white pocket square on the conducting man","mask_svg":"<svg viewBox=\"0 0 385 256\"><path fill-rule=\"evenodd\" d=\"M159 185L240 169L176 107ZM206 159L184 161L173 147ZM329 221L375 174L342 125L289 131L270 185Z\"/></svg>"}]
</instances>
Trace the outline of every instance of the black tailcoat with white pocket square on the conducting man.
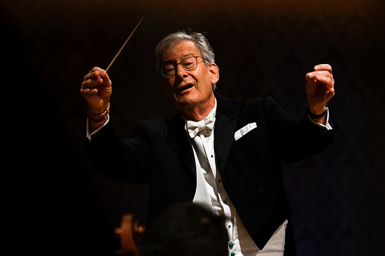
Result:
<instances>
[{"instance_id":1,"label":"black tailcoat with white pocket square on the conducting man","mask_svg":"<svg viewBox=\"0 0 385 256\"><path fill-rule=\"evenodd\" d=\"M326 149L336 124L330 115L328 122L333 129L325 132L306 113L295 118L271 97L243 103L217 92L215 97L217 168L239 217L261 250L293 213L284 190L282 161L300 161ZM132 136L126 139L119 136L110 120L95 139L85 140L85 149L94 169L104 175L149 184L149 227L163 207L193 200L196 165L191 143L177 114L173 119L137 122Z\"/></svg>"}]
</instances>

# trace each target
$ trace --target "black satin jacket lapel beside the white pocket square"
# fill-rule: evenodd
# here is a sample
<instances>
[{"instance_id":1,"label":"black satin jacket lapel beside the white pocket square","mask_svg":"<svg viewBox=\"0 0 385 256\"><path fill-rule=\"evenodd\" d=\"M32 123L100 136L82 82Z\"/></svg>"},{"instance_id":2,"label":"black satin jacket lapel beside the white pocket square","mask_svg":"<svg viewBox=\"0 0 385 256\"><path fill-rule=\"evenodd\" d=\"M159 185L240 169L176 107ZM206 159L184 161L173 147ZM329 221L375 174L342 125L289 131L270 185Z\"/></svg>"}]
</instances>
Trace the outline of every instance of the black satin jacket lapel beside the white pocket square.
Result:
<instances>
[{"instance_id":1,"label":"black satin jacket lapel beside the white pocket square","mask_svg":"<svg viewBox=\"0 0 385 256\"><path fill-rule=\"evenodd\" d=\"M219 94L215 94L215 96L217 98L217 113L215 116L214 141L219 169L223 173L231 144L234 141L239 103L230 101Z\"/></svg>"}]
</instances>

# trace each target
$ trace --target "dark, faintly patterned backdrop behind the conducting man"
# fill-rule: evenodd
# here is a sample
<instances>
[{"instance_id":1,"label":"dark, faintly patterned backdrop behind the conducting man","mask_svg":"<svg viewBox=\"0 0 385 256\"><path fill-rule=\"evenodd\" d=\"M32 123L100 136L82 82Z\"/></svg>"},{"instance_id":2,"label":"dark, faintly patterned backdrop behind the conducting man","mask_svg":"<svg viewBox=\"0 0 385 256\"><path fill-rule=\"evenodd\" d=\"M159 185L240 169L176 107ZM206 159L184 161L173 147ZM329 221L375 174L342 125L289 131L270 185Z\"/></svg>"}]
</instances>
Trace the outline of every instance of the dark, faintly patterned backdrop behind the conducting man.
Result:
<instances>
[{"instance_id":1,"label":"dark, faintly patterned backdrop behind the conducting man","mask_svg":"<svg viewBox=\"0 0 385 256\"><path fill-rule=\"evenodd\" d=\"M176 30L206 34L218 92L239 101L269 95L299 117L305 74L331 64L335 140L311 159L284 163L298 253L385 255L384 0L0 2L2 173L14 252L114 255L122 215L144 222L146 186L90 167L79 95L83 76L106 68L144 17L109 70L121 135L137 120L174 115L157 85L154 49Z\"/></svg>"}]
</instances>

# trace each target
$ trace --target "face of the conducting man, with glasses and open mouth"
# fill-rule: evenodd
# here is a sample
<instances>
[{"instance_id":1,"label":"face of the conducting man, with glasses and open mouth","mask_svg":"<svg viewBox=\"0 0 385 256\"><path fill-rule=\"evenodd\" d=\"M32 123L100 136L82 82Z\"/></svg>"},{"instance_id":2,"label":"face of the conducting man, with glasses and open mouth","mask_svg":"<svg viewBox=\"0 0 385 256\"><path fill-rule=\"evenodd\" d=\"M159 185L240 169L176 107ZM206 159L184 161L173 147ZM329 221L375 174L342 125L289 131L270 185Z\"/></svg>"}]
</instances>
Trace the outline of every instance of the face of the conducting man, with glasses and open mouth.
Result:
<instances>
[{"instance_id":1,"label":"face of the conducting man, with glasses and open mouth","mask_svg":"<svg viewBox=\"0 0 385 256\"><path fill-rule=\"evenodd\" d=\"M218 66L206 66L193 42L178 43L173 51L164 52L162 60L160 87L179 112L184 115L215 102L212 86L219 79Z\"/></svg>"}]
</instances>

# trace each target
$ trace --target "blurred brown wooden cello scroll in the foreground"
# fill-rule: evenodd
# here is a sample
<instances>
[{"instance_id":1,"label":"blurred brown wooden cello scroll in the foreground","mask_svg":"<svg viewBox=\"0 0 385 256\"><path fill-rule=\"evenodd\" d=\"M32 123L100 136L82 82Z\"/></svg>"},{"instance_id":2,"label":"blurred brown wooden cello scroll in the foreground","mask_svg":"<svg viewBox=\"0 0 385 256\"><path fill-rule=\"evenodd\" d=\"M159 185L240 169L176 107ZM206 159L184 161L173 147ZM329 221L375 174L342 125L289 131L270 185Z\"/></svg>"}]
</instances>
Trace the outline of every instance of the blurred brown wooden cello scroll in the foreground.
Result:
<instances>
[{"instance_id":1,"label":"blurred brown wooden cello scroll in the foreground","mask_svg":"<svg viewBox=\"0 0 385 256\"><path fill-rule=\"evenodd\" d=\"M139 243L145 236L145 227L139 225L133 214L124 214L120 227L115 229L115 234L120 237L122 256L140 256Z\"/></svg>"}]
</instances>

